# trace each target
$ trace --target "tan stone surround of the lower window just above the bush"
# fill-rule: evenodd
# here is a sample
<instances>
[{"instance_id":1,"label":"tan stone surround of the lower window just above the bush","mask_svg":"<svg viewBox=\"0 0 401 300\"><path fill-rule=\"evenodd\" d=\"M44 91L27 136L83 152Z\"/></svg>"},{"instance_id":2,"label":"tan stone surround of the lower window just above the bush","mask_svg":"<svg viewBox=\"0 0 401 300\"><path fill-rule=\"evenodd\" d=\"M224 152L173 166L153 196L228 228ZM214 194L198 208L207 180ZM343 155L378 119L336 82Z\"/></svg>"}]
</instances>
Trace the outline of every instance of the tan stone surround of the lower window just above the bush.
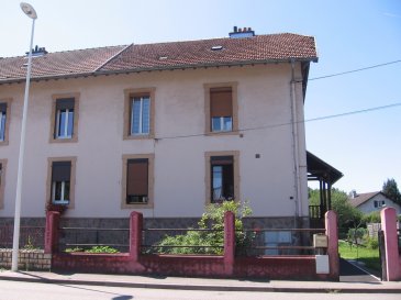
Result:
<instances>
[{"instance_id":1,"label":"tan stone surround of the lower window just above the bush","mask_svg":"<svg viewBox=\"0 0 401 300\"><path fill-rule=\"evenodd\" d=\"M205 162L205 174L204 174L204 186L205 186L205 204L212 203L211 201L211 157L213 156L233 156L234 159L234 199L235 201L240 201L240 151L218 151L218 152L205 152L204 153L204 162Z\"/></svg>"}]
</instances>

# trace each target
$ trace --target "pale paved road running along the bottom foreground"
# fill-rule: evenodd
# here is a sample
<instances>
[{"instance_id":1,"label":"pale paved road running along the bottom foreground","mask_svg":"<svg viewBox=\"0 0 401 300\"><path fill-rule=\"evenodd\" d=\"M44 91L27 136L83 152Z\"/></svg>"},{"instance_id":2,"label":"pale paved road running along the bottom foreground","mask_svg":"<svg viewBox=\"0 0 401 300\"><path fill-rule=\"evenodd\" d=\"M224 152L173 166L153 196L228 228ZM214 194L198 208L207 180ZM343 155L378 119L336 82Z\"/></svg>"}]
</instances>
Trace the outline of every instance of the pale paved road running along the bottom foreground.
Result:
<instances>
[{"instance_id":1,"label":"pale paved road running along the bottom foreground","mask_svg":"<svg viewBox=\"0 0 401 300\"><path fill-rule=\"evenodd\" d=\"M391 293L313 293L319 300L399 300ZM189 291L0 281L1 300L311 300L310 293Z\"/></svg>"}]
</instances>

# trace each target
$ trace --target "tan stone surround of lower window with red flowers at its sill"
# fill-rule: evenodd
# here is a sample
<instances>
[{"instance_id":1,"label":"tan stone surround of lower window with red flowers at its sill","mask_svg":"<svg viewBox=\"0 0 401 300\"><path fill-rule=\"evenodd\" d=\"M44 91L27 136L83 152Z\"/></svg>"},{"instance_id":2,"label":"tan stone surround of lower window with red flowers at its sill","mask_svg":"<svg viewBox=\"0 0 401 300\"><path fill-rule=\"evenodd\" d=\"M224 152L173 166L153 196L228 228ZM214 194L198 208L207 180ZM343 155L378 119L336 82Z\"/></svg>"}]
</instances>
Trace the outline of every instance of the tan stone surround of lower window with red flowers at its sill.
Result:
<instances>
[{"instance_id":1,"label":"tan stone surround of lower window with red flowers at its sill","mask_svg":"<svg viewBox=\"0 0 401 300\"><path fill-rule=\"evenodd\" d=\"M75 208L75 185L77 170L77 156L66 157L48 157L47 158L47 180L46 180L46 203L45 207L52 202L52 168L55 162L70 162L71 163L71 178L69 180L69 203L68 209Z\"/></svg>"}]
</instances>

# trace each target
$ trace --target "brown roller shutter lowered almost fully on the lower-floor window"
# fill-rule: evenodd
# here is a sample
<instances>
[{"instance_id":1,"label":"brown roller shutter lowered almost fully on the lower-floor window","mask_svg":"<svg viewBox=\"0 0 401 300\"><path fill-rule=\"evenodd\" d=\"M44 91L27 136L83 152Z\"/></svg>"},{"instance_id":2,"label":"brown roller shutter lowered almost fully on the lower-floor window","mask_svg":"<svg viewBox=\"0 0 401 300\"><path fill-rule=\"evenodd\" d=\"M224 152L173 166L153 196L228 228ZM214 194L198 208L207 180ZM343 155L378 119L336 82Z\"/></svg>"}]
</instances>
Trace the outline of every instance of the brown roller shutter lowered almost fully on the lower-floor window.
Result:
<instances>
[{"instance_id":1,"label":"brown roller shutter lowered almost fully on the lower-floor window","mask_svg":"<svg viewBox=\"0 0 401 300\"><path fill-rule=\"evenodd\" d=\"M129 159L127 162L127 196L147 196L148 191L148 160Z\"/></svg>"}]
</instances>

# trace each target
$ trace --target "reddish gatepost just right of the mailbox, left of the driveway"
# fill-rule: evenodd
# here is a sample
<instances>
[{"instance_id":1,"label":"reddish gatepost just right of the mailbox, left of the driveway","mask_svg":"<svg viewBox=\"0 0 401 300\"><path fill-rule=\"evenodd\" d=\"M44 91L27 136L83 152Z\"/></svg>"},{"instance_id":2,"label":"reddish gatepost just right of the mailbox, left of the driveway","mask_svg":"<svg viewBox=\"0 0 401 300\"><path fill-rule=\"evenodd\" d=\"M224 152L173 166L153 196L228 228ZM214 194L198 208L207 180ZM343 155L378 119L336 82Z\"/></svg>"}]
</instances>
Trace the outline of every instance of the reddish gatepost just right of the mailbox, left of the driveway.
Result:
<instances>
[{"instance_id":1,"label":"reddish gatepost just right of the mailbox, left of the driveway","mask_svg":"<svg viewBox=\"0 0 401 300\"><path fill-rule=\"evenodd\" d=\"M337 214L330 210L325 213L324 221L327 235L330 277L334 280L339 280Z\"/></svg>"}]
</instances>

